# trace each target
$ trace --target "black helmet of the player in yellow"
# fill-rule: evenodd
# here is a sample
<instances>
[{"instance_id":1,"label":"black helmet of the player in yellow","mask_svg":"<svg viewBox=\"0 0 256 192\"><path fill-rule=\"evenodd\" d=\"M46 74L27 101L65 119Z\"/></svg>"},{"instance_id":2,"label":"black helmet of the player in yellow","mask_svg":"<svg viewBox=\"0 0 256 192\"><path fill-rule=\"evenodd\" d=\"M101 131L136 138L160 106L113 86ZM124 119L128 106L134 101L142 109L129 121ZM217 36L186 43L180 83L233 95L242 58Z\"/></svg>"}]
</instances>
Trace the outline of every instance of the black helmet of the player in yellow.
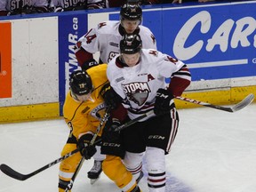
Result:
<instances>
[{"instance_id":1,"label":"black helmet of the player in yellow","mask_svg":"<svg viewBox=\"0 0 256 192\"><path fill-rule=\"evenodd\" d=\"M88 94L92 91L92 79L85 71L76 70L70 76L70 89L77 95Z\"/></svg>"}]
</instances>

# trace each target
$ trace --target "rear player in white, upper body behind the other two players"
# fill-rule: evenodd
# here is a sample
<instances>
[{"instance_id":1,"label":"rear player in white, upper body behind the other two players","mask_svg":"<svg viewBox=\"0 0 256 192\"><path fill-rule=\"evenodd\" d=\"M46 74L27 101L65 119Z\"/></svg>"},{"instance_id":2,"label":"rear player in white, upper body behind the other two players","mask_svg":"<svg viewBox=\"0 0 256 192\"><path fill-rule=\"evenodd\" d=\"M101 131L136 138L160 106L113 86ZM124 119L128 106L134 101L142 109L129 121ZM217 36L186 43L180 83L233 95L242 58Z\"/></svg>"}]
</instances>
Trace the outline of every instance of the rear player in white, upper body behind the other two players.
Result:
<instances>
[{"instance_id":1,"label":"rear player in white, upper body behind the other two players","mask_svg":"<svg viewBox=\"0 0 256 192\"><path fill-rule=\"evenodd\" d=\"M141 26L142 10L139 4L124 4L120 11L120 20L108 20L91 28L82 36L75 53L79 66L83 69L98 65L93 59L95 52L100 52L100 63L108 63L119 52L119 43L124 34L140 34L143 48L156 49L156 39L149 28Z\"/></svg>"}]
</instances>

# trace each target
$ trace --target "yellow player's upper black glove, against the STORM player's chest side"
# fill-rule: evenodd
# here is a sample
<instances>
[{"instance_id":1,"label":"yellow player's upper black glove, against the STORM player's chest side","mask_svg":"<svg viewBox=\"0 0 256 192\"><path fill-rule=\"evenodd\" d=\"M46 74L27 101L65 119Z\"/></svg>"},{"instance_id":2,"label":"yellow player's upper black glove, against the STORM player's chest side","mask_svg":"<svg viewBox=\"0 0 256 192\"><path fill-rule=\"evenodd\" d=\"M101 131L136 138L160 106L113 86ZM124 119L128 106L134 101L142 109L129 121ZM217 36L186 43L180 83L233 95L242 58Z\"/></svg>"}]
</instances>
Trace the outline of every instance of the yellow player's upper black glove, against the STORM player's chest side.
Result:
<instances>
[{"instance_id":1,"label":"yellow player's upper black glove, against the STORM player's chest side","mask_svg":"<svg viewBox=\"0 0 256 192\"><path fill-rule=\"evenodd\" d=\"M122 102L122 98L114 91L110 84L103 85L100 95L103 97L107 107L111 109L116 108Z\"/></svg>"}]
</instances>

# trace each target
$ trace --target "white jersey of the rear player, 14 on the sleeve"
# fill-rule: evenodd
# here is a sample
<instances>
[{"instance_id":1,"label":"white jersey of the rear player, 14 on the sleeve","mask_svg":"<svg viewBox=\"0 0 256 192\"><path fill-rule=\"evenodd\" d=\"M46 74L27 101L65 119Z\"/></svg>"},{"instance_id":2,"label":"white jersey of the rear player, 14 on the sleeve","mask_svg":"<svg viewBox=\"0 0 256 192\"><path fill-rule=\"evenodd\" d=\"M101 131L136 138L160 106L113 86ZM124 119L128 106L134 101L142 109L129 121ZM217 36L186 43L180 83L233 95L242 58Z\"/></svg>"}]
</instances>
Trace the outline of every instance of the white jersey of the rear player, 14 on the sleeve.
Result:
<instances>
[{"instance_id":1,"label":"white jersey of the rear player, 14 on the sleeve","mask_svg":"<svg viewBox=\"0 0 256 192\"><path fill-rule=\"evenodd\" d=\"M119 44L122 38L120 22L108 20L98 24L97 28L92 28L87 34L82 36L78 42L86 52L100 52L102 63L108 63L119 53ZM142 40L142 47L145 49L156 49L156 38L149 28L139 26L136 29Z\"/></svg>"}]
</instances>

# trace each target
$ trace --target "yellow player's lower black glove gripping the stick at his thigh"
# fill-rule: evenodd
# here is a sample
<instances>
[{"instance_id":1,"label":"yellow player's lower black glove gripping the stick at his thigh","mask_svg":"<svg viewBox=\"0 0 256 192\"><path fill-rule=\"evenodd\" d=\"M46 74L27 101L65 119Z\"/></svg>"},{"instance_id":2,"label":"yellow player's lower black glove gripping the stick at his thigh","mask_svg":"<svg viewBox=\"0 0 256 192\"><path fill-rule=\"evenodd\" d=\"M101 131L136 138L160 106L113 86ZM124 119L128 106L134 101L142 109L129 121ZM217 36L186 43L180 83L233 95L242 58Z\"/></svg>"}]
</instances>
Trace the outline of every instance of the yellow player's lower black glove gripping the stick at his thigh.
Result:
<instances>
[{"instance_id":1,"label":"yellow player's lower black glove gripping the stick at his thigh","mask_svg":"<svg viewBox=\"0 0 256 192\"><path fill-rule=\"evenodd\" d=\"M96 153L96 148L94 145L90 145L92 140L92 134L84 134L81 138L79 138L77 142L77 148L79 148L80 153L84 158L91 159L91 157Z\"/></svg>"}]
</instances>

